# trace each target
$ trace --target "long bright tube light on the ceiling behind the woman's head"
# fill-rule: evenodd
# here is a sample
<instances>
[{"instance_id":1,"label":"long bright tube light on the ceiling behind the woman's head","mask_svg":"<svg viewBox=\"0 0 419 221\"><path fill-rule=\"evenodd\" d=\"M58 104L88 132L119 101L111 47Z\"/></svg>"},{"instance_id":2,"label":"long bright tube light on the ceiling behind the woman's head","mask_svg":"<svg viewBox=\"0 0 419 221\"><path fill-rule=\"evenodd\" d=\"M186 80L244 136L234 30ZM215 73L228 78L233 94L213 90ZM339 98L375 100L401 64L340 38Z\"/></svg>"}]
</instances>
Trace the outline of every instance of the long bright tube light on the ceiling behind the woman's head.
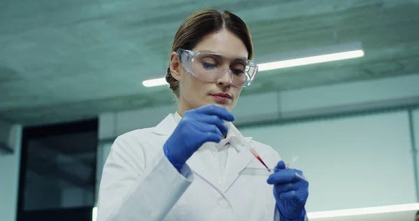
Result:
<instances>
[{"instance_id":1,"label":"long bright tube light on the ceiling behind the woman's head","mask_svg":"<svg viewBox=\"0 0 419 221\"><path fill-rule=\"evenodd\" d=\"M273 69L284 69L293 66L303 66L308 64L318 64L325 62L335 62L344 59L363 57L364 50L360 42L330 45L323 48L312 48L300 52L290 52L277 57L282 57L277 62L267 62L258 64L259 71L269 71ZM293 57L292 59L290 57ZM142 81L145 87L156 87L168 85L166 78L156 78Z\"/></svg>"}]
</instances>

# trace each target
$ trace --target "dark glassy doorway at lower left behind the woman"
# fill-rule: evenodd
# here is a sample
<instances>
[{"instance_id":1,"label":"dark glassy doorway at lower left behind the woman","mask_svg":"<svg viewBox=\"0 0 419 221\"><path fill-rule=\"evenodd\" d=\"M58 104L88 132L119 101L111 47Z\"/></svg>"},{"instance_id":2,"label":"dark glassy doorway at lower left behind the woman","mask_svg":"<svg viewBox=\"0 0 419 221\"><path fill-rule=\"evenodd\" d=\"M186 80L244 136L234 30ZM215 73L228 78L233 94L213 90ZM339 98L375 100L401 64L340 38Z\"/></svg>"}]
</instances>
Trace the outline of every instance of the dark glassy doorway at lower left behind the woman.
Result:
<instances>
[{"instance_id":1,"label":"dark glassy doorway at lower left behind the woman","mask_svg":"<svg viewBox=\"0 0 419 221\"><path fill-rule=\"evenodd\" d=\"M91 220L98 120L24 127L17 221Z\"/></svg>"}]
</instances>

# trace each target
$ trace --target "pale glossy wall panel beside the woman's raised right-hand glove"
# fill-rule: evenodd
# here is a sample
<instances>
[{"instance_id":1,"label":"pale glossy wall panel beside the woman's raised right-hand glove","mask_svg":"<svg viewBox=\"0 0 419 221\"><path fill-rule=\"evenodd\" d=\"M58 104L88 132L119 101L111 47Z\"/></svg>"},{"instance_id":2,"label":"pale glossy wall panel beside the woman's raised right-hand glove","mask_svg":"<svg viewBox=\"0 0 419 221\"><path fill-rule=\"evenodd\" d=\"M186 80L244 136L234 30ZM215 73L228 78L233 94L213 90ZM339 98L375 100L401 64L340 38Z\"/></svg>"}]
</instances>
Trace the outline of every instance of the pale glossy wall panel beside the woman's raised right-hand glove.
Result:
<instances>
[{"instance_id":1,"label":"pale glossy wall panel beside the woman's raised right-hand glove","mask_svg":"<svg viewBox=\"0 0 419 221\"><path fill-rule=\"evenodd\" d=\"M416 203L407 111L241 128L310 181L308 211ZM274 166L274 165L272 165Z\"/></svg>"}]
</instances>

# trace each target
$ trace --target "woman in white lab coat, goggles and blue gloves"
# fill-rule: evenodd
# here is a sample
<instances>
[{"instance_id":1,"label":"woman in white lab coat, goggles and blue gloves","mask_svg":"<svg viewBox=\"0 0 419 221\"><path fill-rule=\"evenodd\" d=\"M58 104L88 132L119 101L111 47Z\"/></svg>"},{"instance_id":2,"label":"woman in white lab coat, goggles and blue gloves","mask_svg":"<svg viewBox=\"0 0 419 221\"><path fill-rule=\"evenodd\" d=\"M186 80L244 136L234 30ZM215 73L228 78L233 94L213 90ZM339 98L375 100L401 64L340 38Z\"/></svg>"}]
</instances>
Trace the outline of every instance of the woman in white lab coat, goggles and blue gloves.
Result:
<instances>
[{"instance_id":1,"label":"woman in white lab coat, goggles and blue gloves","mask_svg":"<svg viewBox=\"0 0 419 221\"><path fill-rule=\"evenodd\" d=\"M257 66L246 24L199 10L179 27L166 80L179 101L156 127L119 136L103 169L98 221L304 220L308 183L270 146L244 138L230 113ZM246 167L278 171L240 174ZM273 189L273 191L272 191Z\"/></svg>"}]
</instances>

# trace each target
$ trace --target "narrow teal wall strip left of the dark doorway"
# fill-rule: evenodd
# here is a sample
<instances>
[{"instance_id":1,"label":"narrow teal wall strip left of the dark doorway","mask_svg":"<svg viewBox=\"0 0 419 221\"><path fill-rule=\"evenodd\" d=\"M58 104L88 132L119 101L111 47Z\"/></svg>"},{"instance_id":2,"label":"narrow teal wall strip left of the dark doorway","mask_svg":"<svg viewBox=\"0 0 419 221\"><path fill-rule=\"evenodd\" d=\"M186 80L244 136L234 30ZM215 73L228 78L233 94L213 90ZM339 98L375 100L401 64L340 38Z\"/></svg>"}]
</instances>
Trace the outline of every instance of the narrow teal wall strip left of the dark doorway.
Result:
<instances>
[{"instance_id":1,"label":"narrow teal wall strip left of the dark doorway","mask_svg":"<svg viewBox=\"0 0 419 221\"><path fill-rule=\"evenodd\" d=\"M0 122L0 137L13 150L13 153L0 153L0 218L1 221L15 221L22 127Z\"/></svg>"}]
</instances>

